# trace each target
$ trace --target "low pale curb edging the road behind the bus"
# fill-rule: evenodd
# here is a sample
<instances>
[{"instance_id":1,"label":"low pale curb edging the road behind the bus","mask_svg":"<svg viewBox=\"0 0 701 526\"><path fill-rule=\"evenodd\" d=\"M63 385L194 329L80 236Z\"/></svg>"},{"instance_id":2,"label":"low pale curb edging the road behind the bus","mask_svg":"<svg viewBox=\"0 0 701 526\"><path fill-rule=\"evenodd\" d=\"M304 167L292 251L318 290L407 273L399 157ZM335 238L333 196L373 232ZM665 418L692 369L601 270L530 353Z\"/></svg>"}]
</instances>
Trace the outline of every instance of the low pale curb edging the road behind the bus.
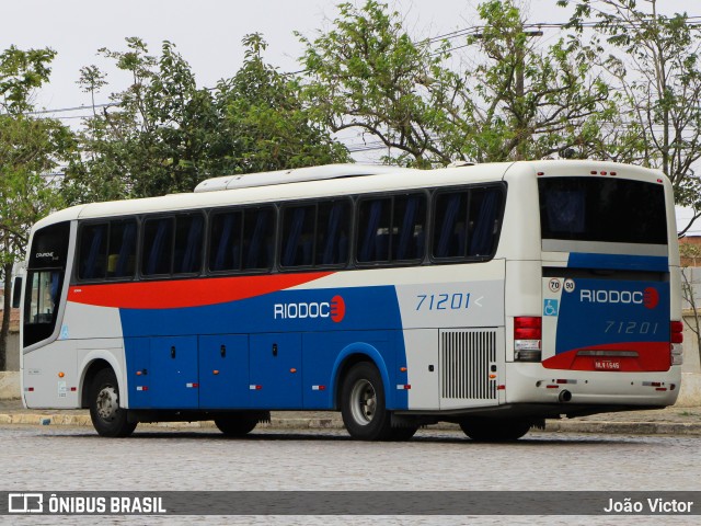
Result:
<instances>
[{"instance_id":1,"label":"low pale curb edging the road behind the bus","mask_svg":"<svg viewBox=\"0 0 701 526\"><path fill-rule=\"evenodd\" d=\"M66 425L92 427L90 415L83 414L0 414L0 425ZM148 427L216 428L214 422L159 422L139 424ZM261 430L344 430L340 419L279 419L258 425ZM439 423L428 427L435 431L460 432L458 424ZM544 430L531 433L582 433L629 435L700 435L701 424L681 422L607 422L607 421L548 421Z\"/></svg>"}]
</instances>

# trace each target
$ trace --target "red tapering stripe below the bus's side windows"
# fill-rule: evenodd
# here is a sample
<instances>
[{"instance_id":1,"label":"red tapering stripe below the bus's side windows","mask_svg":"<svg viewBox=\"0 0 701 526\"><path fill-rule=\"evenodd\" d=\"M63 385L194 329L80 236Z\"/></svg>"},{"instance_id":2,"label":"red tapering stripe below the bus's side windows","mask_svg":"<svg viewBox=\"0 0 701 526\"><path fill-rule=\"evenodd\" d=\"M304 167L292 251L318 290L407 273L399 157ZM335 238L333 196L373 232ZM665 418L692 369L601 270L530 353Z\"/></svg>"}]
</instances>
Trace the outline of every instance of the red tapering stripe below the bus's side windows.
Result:
<instances>
[{"instance_id":1,"label":"red tapering stripe below the bus's side windows","mask_svg":"<svg viewBox=\"0 0 701 526\"><path fill-rule=\"evenodd\" d=\"M225 304L313 282L333 274L273 274L162 282L111 283L70 287L68 300L120 309L176 309Z\"/></svg>"}]
</instances>

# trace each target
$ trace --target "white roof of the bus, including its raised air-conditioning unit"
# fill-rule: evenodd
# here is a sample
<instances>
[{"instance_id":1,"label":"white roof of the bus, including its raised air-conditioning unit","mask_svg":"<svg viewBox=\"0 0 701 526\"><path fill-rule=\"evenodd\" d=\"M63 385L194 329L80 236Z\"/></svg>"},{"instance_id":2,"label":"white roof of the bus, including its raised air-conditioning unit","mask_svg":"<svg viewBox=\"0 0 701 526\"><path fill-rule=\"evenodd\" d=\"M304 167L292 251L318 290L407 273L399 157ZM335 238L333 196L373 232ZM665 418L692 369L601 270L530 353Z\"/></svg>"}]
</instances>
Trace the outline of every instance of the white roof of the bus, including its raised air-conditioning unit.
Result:
<instances>
[{"instance_id":1,"label":"white roof of the bus, including its raised air-conditioning unit","mask_svg":"<svg viewBox=\"0 0 701 526\"><path fill-rule=\"evenodd\" d=\"M57 211L37 224L166 213L276 201L296 201L332 195L416 190L427 186L486 183L512 178L545 175L588 175L618 170L621 175L641 180L664 178L662 172L604 161L518 161L416 170L363 164L329 164L297 170L262 172L209 179L195 192L160 197L78 205ZM260 178L260 179L258 179ZM287 179L289 178L289 179Z\"/></svg>"}]
</instances>

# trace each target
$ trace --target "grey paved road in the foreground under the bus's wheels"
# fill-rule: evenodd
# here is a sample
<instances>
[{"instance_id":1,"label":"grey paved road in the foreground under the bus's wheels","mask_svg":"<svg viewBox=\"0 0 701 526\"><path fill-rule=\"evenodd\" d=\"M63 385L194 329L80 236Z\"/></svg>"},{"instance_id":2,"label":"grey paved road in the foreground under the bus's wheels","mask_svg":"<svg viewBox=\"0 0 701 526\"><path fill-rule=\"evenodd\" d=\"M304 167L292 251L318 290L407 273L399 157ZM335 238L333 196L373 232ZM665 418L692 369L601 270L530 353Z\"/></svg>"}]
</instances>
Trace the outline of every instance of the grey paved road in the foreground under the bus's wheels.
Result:
<instances>
[{"instance_id":1,"label":"grey paved road in the foreground under the bus's wheels","mask_svg":"<svg viewBox=\"0 0 701 526\"><path fill-rule=\"evenodd\" d=\"M460 433L421 431L409 443L358 443L342 431L260 431L228 439L214 430L140 427L127 439L58 426L0 427L7 491L171 490L647 490L701 491L701 438L531 433L486 445ZM7 518L7 517L5 517ZM37 517L38 518L38 517ZM73 524L76 517L45 517ZM70 521L72 518L72 521ZM87 517L85 517L87 518ZM142 522L141 517L141 522ZM172 524L154 518L149 522ZM278 517L276 524L343 524ZM356 517L358 518L358 517ZM417 517L411 524L438 524ZM549 524L574 524L560 517ZM591 524L606 523L587 517ZM636 524L658 524L654 517ZM668 517L670 518L670 517ZM691 517L671 517L693 524ZM698 517L697 517L698 518ZM182 519L182 521L181 521ZM268 524L271 517L221 518ZM193 517L176 518L192 524ZM128 517L111 522L140 524ZM207 517L207 523L212 517ZM406 518L394 524L405 524ZM450 524L461 524L453 517ZM482 517L479 523L489 522ZM509 521L513 523L514 521ZM669 522L665 519L665 522ZM48 524L45 521L43 524ZM372 524L369 517L354 519ZM498 521L497 521L498 523ZM532 524L532 517L516 523ZM536 521L538 523L538 521ZM377 523L376 523L377 524ZM383 522L384 524L384 522ZM576 522L576 524L582 524Z\"/></svg>"}]
</instances>

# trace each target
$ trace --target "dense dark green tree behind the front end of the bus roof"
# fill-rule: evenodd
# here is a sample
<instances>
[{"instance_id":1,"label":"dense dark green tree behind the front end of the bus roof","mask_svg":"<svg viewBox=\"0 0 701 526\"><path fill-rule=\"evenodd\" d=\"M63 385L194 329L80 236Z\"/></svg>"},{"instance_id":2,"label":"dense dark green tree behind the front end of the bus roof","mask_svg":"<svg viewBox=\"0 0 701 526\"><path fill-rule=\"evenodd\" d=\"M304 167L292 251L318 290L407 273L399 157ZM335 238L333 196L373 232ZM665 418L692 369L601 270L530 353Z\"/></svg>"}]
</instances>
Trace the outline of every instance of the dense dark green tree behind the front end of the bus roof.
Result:
<instances>
[{"instance_id":1,"label":"dense dark green tree behind the front end of the bus roof","mask_svg":"<svg viewBox=\"0 0 701 526\"><path fill-rule=\"evenodd\" d=\"M111 95L112 106L99 112L93 105L81 134L83 157L67 176L71 202L189 192L207 176L204 160L216 132L211 94L197 88L172 43L163 42L157 58L140 38L126 42L126 52L100 50L131 83ZM89 66L79 83L94 101L105 78Z\"/></svg>"}]
</instances>

